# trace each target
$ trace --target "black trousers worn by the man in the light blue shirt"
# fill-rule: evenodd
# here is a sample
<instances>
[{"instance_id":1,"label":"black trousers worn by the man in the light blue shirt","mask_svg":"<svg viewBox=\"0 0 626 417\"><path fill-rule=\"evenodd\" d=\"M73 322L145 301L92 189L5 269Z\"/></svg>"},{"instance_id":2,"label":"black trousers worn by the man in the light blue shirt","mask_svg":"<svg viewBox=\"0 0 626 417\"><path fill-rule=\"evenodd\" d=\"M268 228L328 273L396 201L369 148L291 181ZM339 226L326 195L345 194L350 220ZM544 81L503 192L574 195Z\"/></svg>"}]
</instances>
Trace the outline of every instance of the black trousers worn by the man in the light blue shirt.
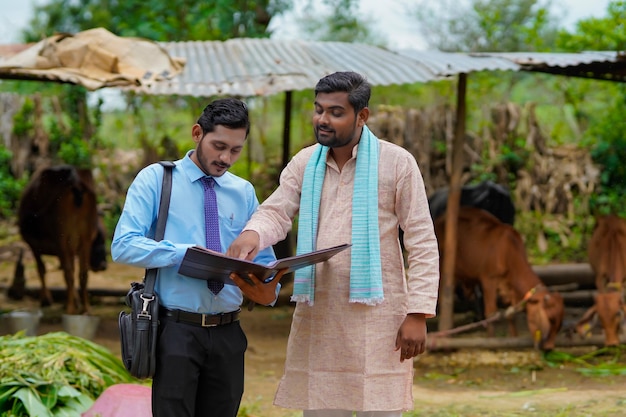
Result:
<instances>
[{"instance_id":1,"label":"black trousers worn by the man in the light blue shirt","mask_svg":"<svg viewBox=\"0 0 626 417\"><path fill-rule=\"evenodd\" d=\"M199 327L160 320L152 415L236 417L248 347L239 321Z\"/></svg>"}]
</instances>

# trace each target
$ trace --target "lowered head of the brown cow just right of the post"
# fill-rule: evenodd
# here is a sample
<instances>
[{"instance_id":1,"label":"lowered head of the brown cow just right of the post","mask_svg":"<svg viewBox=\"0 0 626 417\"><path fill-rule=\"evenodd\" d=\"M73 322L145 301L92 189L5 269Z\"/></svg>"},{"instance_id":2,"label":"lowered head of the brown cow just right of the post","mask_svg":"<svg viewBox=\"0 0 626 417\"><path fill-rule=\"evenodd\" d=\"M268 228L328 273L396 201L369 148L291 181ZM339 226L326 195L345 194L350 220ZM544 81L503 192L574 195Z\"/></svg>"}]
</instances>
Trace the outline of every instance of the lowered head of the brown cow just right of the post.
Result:
<instances>
[{"instance_id":1,"label":"lowered head of the brown cow just right of the post","mask_svg":"<svg viewBox=\"0 0 626 417\"><path fill-rule=\"evenodd\" d=\"M565 308L563 297L547 289L536 291L526 300L526 317L536 349L554 349L556 335L561 330Z\"/></svg>"}]
</instances>

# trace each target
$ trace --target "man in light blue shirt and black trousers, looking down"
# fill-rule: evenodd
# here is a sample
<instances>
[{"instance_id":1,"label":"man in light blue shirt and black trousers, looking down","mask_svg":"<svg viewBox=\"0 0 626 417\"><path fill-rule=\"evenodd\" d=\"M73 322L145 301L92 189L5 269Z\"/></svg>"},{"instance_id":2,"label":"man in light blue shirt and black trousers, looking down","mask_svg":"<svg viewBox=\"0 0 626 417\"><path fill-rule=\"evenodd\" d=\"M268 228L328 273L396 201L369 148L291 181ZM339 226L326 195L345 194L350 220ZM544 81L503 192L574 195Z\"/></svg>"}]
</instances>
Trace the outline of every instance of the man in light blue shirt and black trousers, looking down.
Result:
<instances>
[{"instance_id":1,"label":"man in light blue shirt and black trousers, looking down","mask_svg":"<svg viewBox=\"0 0 626 417\"><path fill-rule=\"evenodd\" d=\"M228 172L249 131L248 111L240 100L219 99L204 109L191 131L195 149L175 161L163 240L154 240L163 167L142 169L126 195L111 244L113 261L159 268L155 417L236 417L239 409L247 348L239 325L241 291L225 285L214 294L207 281L180 275L178 268L189 247L206 246L203 178L215 181L222 252L259 205L252 184ZM254 261L267 264L275 259L268 248Z\"/></svg>"}]
</instances>

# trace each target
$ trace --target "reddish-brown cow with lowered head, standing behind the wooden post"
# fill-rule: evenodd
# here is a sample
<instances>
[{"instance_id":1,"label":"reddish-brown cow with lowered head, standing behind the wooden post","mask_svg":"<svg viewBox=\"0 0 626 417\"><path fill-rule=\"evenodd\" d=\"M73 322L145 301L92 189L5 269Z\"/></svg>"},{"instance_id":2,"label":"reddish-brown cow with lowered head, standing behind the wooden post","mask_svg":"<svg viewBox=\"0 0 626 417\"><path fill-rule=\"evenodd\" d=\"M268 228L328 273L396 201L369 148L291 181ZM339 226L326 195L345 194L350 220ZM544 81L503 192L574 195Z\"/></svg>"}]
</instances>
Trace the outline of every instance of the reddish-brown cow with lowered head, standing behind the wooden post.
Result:
<instances>
[{"instance_id":1,"label":"reddish-brown cow with lowered head, standing behind the wooden post","mask_svg":"<svg viewBox=\"0 0 626 417\"><path fill-rule=\"evenodd\" d=\"M443 261L445 214L435 219L435 233ZM523 307L535 347L554 349L563 321L563 298L549 292L532 270L524 242L512 226L485 210L460 207L454 275L462 286L481 286L486 317L497 312L498 295L508 305ZM512 317L509 332L517 334ZM494 335L491 324L488 334Z\"/></svg>"}]
</instances>

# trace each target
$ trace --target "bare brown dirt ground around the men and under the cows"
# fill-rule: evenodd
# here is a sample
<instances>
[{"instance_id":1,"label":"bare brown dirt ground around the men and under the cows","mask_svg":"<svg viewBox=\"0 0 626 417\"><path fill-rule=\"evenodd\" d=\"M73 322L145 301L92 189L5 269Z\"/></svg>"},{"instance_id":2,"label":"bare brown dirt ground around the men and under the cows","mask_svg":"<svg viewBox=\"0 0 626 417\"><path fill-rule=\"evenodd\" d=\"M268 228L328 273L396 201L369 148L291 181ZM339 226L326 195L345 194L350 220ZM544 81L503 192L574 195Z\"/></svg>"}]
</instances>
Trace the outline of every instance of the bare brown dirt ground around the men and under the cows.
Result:
<instances>
[{"instance_id":1,"label":"bare brown dirt ground around the men and under the cows","mask_svg":"<svg viewBox=\"0 0 626 417\"><path fill-rule=\"evenodd\" d=\"M56 260L49 259L48 285L64 285ZM32 262L26 259L27 288L39 288ZM6 297L14 263L0 256L0 310L37 308L32 297L15 302ZM109 269L91 273L89 287L125 292L143 271L111 264ZM101 317L94 341L119 355L117 315L124 308L119 295L94 296L92 312ZM301 415L272 405L274 390L282 375L285 347L293 305L282 302L273 308L244 309L242 325L249 348L246 363L246 390L242 414L257 417ZM62 302L43 310L38 334L62 330ZM1 322L0 322L1 323ZM8 332L0 325L0 334ZM581 355L591 347L571 348ZM622 351L624 352L624 351ZM624 355L622 355L624 356ZM606 362L614 358L606 357ZM626 359L620 358L626 370ZM427 352L415 361L415 414L413 416L625 416L626 376L585 376L579 365L550 366L532 349L465 349ZM406 414L409 415L408 413Z\"/></svg>"}]
</instances>

